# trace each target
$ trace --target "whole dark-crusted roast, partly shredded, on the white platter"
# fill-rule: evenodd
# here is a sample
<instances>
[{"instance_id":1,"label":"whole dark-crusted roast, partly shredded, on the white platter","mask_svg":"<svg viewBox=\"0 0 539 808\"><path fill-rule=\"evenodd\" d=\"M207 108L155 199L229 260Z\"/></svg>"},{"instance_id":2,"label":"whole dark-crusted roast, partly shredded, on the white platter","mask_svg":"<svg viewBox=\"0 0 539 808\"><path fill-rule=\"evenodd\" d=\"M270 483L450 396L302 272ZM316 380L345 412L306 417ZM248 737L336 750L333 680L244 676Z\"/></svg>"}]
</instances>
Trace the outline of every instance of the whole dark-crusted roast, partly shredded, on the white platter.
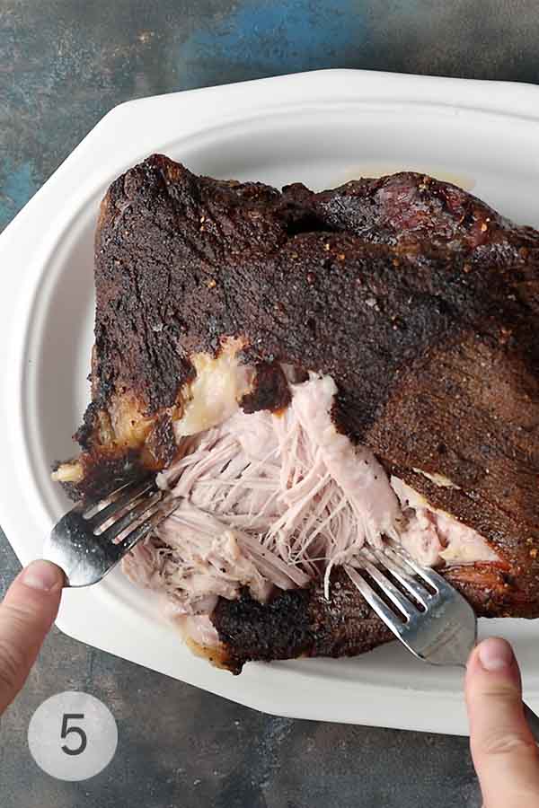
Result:
<instances>
[{"instance_id":1,"label":"whole dark-crusted roast, partly shredded, on the white platter","mask_svg":"<svg viewBox=\"0 0 539 808\"><path fill-rule=\"evenodd\" d=\"M123 568L199 653L388 641L346 573L384 542L478 615L539 616L533 228L422 172L279 191L155 154L103 199L95 287L54 477L93 497L152 470L181 497Z\"/></svg>"}]
</instances>

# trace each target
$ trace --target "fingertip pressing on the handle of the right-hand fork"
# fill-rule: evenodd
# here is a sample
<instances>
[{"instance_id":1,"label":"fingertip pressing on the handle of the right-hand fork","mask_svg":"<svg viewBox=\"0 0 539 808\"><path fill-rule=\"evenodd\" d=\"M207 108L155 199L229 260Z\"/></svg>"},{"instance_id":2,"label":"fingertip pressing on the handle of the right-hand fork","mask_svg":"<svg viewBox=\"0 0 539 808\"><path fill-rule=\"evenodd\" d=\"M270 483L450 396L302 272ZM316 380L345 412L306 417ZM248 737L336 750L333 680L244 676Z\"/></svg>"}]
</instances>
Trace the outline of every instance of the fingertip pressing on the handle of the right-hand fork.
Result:
<instances>
[{"instance_id":1,"label":"fingertip pressing on the handle of the right-hand fork","mask_svg":"<svg viewBox=\"0 0 539 808\"><path fill-rule=\"evenodd\" d=\"M490 637L473 650L466 703L486 808L537 808L539 754L524 717L517 660L505 640Z\"/></svg>"}]
</instances>

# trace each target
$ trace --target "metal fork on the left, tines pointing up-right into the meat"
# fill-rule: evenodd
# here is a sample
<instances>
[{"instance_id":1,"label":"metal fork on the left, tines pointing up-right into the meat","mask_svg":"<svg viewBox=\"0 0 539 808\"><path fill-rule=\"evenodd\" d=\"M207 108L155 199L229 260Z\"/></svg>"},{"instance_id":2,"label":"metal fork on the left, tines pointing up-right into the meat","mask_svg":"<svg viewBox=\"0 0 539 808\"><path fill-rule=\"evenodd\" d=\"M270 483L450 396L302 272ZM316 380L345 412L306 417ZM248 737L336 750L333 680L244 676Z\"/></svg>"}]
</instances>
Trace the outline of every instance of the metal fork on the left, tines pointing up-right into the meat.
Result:
<instances>
[{"instance_id":1,"label":"metal fork on the left, tines pointing up-right into the meat","mask_svg":"<svg viewBox=\"0 0 539 808\"><path fill-rule=\"evenodd\" d=\"M97 584L178 505L178 498L156 486L155 476L97 502L78 502L53 528L43 558L64 570L66 586Z\"/></svg>"}]
</instances>

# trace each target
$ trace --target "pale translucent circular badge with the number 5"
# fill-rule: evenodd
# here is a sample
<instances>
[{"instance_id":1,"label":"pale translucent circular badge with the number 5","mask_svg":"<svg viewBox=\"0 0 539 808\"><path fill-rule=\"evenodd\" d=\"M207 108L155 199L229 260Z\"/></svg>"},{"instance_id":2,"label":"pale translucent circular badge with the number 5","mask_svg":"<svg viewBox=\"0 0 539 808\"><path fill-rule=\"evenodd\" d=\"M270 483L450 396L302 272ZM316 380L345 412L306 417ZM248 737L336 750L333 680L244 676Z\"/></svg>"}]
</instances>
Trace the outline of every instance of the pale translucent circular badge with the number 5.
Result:
<instances>
[{"instance_id":1,"label":"pale translucent circular badge with the number 5","mask_svg":"<svg viewBox=\"0 0 539 808\"><path fill-rule=\"evenodd\" d=\"M99 698L68 690L48 698L31 716L28 745L47 774L58 780L86 780L114 757L118 727Z\"/></svg>"}]
</instances>

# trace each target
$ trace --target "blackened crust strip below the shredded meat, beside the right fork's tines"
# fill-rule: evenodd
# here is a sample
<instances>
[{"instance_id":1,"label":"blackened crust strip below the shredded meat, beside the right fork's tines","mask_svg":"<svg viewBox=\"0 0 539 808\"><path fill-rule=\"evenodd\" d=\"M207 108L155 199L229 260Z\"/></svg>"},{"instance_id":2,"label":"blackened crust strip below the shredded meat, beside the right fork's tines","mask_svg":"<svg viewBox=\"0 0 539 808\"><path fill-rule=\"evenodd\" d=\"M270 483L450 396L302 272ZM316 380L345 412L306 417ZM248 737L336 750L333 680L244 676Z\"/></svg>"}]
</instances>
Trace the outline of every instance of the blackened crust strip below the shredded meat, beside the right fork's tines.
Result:
<instances>
[{"instance_id":1,"label":"blackened crust strip below the shredded meat, beside the right fork's tines","mask_svg":"<svg viewBox=\"0 0 539 808\"><path fill-rule=\"evenodd\" d=\"M221 598L212 621L225 647L222 661L234 673L253 660L355 656L393 638L340 570L329 601L319 585L279 593L266 605L244 591L237 601Z\"/></svg>"}]
</instances>

